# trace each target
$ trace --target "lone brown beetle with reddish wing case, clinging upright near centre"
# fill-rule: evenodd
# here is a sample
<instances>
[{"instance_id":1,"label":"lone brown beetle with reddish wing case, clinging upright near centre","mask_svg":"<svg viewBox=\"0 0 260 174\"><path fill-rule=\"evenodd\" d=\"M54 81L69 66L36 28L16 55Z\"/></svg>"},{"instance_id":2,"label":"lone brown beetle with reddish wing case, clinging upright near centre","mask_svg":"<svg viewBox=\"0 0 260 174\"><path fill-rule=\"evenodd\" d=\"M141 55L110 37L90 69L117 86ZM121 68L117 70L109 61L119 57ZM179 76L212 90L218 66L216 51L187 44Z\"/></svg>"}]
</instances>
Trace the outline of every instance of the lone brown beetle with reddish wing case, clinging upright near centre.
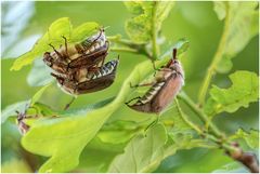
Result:
<instances>
[{"instance_id":1,"label":"lone brown beetle with reddish wing case, clinging upright near centre","mask_svg":"<svg viewBox=\"0 0 260 174\"><path fill-rule=\"evenodd\" d=\"M136 111L159 113L171 103L183 84L184 72L181 63L177 59L177 49L173 49L172 58L159 69L154 82L136 85L152 85L145 95L135 97L126 104ZM134 99L138 101L133 105L129 105Z\"/></svg>"}]
</instances>

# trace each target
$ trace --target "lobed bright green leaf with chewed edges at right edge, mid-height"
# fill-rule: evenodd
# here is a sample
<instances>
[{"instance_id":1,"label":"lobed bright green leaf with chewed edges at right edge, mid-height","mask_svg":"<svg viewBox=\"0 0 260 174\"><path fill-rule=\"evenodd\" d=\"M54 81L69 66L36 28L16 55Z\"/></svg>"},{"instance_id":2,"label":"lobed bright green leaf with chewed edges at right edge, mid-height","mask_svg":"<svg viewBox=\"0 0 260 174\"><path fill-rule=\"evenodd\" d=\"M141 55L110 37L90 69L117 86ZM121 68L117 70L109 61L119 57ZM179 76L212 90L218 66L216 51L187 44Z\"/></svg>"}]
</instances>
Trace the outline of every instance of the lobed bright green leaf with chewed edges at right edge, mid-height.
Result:
<instances>
[{"instance_id":1,"label":"lobed bright green leaf with chewed edges at right edge, mid-height","mask_svg":"<svg viewBox=\"0 0 260 174\"><path fill-rule=\"evenodd\" d=\"M248 107L257 102L258 76L255 72L238 70L230 75L232 86L220 89L216 85L210 90L210 97L205 105L205 112L209 116L223 111L234 112L240 107Z\"/></svg>"}]
</instances>

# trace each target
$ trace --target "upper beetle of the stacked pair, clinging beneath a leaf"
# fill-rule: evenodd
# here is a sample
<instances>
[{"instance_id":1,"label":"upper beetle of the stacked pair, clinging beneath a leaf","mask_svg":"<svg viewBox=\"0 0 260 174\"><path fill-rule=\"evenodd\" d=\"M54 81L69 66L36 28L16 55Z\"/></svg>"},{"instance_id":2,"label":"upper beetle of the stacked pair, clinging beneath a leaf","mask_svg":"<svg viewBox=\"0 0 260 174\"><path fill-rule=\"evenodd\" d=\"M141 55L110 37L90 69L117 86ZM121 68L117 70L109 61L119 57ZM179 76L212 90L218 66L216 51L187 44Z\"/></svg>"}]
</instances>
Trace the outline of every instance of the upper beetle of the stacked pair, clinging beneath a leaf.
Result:
<instances>
[{"instance_id":1,"label":"upper beetle of the stacked pair, clinging beneath a leaf","mask_svg":"<svg viewBox=\"0 0 260 174\"><path fill-rule=\"evenodd\" d=\"M104 59L107 55L109 42L106 40L104 29L100 29L100 32L88 38L79 44L67 44L61 46L54 52L46 52L43 55L43 62L58 73L72 77L78 68L84 67L89 71L95 69L99 64L104 64Z\"/></svg>"}]
</instances>

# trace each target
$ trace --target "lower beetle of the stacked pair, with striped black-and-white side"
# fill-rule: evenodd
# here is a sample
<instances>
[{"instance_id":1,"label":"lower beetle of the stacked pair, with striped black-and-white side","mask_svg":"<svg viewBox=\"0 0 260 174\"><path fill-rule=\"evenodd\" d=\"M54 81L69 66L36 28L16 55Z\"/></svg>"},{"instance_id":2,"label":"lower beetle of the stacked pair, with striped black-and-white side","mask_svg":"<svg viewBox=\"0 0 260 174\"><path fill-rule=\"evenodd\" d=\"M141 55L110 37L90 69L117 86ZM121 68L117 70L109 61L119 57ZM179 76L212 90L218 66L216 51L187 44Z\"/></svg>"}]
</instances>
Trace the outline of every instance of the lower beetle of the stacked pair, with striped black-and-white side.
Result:
<instances>
[{"instance_id":1,"label":"lower beetle of the stacked pair, with striped black-and-white side","mask_svg":"<svg viewBox=\"0 0 260 174\"><path fill-rule=\"evenodd\" d=\"M52 73L57 80L62 90L70 95L77 96L80 94L92 93L108 88L116 77L116 69L119 63L118 59L110 61L99 67L96 70L80 75L81 82L64 78L60 75ZM84 75L84 77L83 77Z\"/></svg>"}]
</instances>

